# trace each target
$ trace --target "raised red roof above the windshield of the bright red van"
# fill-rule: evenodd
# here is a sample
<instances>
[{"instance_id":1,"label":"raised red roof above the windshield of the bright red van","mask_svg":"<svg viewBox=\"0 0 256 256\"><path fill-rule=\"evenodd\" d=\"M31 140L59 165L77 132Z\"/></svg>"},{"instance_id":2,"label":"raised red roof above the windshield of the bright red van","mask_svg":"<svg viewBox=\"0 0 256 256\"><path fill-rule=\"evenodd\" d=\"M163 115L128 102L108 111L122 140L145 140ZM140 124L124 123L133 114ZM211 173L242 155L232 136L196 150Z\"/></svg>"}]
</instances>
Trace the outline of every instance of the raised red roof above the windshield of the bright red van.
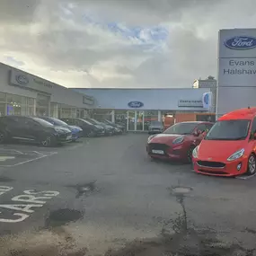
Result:
<instances>
[{"instance_id":1,"label":"raised red roof above the windshield of the bright red van","mask_svg":"<svg viewBox=\"0 0 256 256\"><path fill-rule=\"evenodd\" d=\"M256 116L256 107L234 110L229 112L218 120L234 120L234 119L253 119Z\"/></svg>"}]
</instances>

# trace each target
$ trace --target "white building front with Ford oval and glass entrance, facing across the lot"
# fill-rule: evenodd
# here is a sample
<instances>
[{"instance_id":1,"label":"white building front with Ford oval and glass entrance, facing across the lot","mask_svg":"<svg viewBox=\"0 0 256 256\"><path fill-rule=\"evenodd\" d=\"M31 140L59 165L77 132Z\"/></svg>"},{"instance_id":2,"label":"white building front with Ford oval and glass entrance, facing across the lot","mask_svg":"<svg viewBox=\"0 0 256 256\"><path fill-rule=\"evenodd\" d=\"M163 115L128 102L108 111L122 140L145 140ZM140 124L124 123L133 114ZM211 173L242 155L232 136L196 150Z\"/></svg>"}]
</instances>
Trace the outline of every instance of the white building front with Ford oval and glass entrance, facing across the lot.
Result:
<instances>
[{"instance_id":1,"label":"white building front with Ford oval and glass entrance, facing across the lot","mask_svg":"<svg viewBox=\"0 0 256 256\"><path fill-rule=\"evenodd\" d=\"M193 89L72 89L94 98L93 117L123 122L128 130L146 130L150 120L180 112L208 112L202 97L207 88Z\"/></svg>"}]
</instances>

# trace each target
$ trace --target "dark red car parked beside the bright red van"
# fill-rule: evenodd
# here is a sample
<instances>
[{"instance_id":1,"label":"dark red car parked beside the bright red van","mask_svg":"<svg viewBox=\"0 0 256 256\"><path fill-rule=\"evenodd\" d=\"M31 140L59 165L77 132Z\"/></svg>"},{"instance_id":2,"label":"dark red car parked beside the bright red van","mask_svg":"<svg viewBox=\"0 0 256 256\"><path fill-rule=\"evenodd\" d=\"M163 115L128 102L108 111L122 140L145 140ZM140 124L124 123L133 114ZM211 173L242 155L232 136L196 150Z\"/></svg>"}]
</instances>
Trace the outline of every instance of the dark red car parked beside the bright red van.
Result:
<instances>
[{"instance_id":1,"label":"dark red car parked beside the bright red van","mask_svg":"<svg viewBox=\"0 0 256 256\"><path fill-rule=\"evenodd\" d=\"M152 158L191 162L192 152L199 145L211 122L181 122L163 133L148 137L146 151Z\"/></svg>"}]
</instances>

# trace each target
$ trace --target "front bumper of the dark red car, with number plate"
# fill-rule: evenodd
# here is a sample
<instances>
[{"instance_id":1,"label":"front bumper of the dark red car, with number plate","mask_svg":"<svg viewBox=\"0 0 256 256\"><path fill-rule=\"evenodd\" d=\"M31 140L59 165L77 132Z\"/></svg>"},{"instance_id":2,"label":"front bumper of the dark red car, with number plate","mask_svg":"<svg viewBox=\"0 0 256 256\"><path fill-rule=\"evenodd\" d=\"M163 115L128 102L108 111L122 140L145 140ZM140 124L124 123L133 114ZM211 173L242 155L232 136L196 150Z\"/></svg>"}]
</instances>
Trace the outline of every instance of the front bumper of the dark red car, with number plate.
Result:
<instances>
[{"instance_id":1,"label":"front bumper of the dark red car, with number plate","mask_svg":"<svg viewBox=\"0 0 256 256\"><path fill-rule=\"evenodd\" d=\"M163 154L155 154L154 150L162 150ZM183 144L168 146L165 144L150 143L146 145L147 154L158 159L186 160L187 151Z\"/></svg>"}]
</instances>

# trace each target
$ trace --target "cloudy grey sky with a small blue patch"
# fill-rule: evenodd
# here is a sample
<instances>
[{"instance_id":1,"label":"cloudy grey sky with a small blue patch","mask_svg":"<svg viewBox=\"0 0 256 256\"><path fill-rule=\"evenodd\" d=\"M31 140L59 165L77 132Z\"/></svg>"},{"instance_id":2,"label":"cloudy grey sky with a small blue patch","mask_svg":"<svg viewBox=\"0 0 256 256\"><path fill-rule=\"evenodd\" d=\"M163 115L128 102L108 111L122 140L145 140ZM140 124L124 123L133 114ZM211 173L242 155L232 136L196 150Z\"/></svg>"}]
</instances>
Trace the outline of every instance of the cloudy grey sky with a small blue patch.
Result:
<instances>
[{"instance_id":1,"label":"cloudy grey sky with a small blue patch","mask_svg":"<svg viewBox=\"0 0 256 256\"><path fill-rule=\"evenodd\" d=\"M220 29L255 0L1 0L0 62L66 87L179 88L216 77Z\"/></svg>"}]
</instances>

